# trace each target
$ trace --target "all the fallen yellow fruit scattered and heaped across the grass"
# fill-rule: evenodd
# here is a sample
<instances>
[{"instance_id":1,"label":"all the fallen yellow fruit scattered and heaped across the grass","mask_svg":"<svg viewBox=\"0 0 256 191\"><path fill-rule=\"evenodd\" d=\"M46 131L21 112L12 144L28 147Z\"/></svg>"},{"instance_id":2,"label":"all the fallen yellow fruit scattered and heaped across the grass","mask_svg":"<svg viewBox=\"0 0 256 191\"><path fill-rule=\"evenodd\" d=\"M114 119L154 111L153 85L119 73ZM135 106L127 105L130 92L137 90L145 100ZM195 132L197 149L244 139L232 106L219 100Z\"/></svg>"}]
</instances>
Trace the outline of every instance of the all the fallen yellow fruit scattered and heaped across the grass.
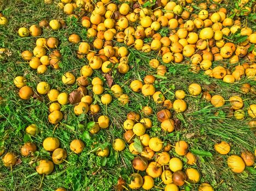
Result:
<instances>
[{"instance_id":1,"label":"all the fallen yellow fruit scattered and heaped across the grass","mask_svg":"<svg viewBox=\"0 0 256 191\"><path fill-rule=\"evenodd\" d=\"M52 3L50 0L44 2ZM118 5L110 0L96 3L87 0L61 0L58 7L71 18L75 17L79 22L81 21L81 26L87 30L87 38L93 39L92 43L89 43L88 39L81 39L78 34L73 33L69 36L69 42L77 44L78 49L75 52L77 57L86 58L88 64L80 69L80 76L75 76L72 71L62 75L63 86L67 89L76 83L77 89L71 93L67 93L68 90L60 92L52 88L47 81L39 82L34 91L32 87L27 86L24 76L16 76L14 85L19 88L19 97L24 100L30 99L35 94L47 97L50 103L48 121L51 124L61 122L64 117L61 107L66 104L73 105L75 115L88 114L90 118L105 109L94 102L95 98L100 97L100 102L104 106L111 104L113 99L117 99L120 104L128 104L130 98L123 93L120 85L111 84L110 90L104 88L103 76L111 75L114 70L120 74L128 73L129 49L133 48L157 55L149 61L149 67L155 69L157 75L146 75L143 81L135 79L130 82L129 87L133 92L141 92L144 97L152 98L154 103L163 106L164 109L157 111L156 116L164 132L171 133L175 130L171 111L174 110L177 114L185 112L186 96L202 95L202 98L211 102L215 108L224 106L228 102L230 108L234 110L234 117L243 120L244 100L240 96L231 96L229 100L225 100L219 94L211 95L210 92L203 91L198 83L191 83L188 89L177 89L174 93L175 100L172 102L164 96L168 91L161 92L155 88L156 76L166 75L169 64L189 64L192 72L199 73L203 70L209 77L221 79L226 83L234 83L243 77L251 81L256 79L254 58L256 33L252 28L243 25L239 19L227 17L229 15L227 10L221 8L219 4L208 6L207 3L200 3L200 10L197 11L194 10L192 0L179 3L162 0L156 6L140 0ZM240 6L247 9L249 14L251 8L248 5L247 0L240 2ZM76 14L78 12L79 15ZM0 15L0 25L7 24L8 19ZM44 27L58 31L63 25L63 21L55 19L49 23L41 21L39 25L32 25L29 29L19 28L18 34L21 38L29 35L39 37ZM164 33L164 30L168 33ZM235 35L242 37L243 41L237 43L232 40ZM61 53L57 50L59 44L59 40L55 37L37 38L33 51L25 50L21 53L21 57L29 63L31 69L44 75L48 66L54 69L61 67ZM94 77L95 70L100 70L103 76ZM250 83L244 83L241 91L255 93ZM247 112L253 119L249 122L249 126L255 127L256 104L249 105ZM136 155L132 165L138 172L131 175L132 180L128 186L132 189L142 187L150 190L156 186L154 178L158 177L164 183L166 191L179 190L180 186L187 183L198 183L201 178L200 171L195 166L185 169L181 160L185 157L188 165L195 165L197 162L197 157L189 152L189 143L180 140L172 146L157 136L151 137L149 132L153 123L150 116L154 112L150 106L144 106L141 114L130 112L127 120L123 122L123 138L117 138L112 142L112 148L116 152L122 152L128 144L130 153ZM109 128L111 123L107 115L100 115L93 122L89 130L92 134ZM37 136L36 124L27 127L26 133L32 137ZM58 138L45 138L42 144L44 150L50 152L52 160L40 160L36 171L38 174L48 175L54 170L54 164L66 162L67 151L60 147ZM70 143L72 153L79 154L83 152L84 147L82 140L76 139ZM170 152L172 147L175 148L175 153ZM230 148L229 143L225 141L214 145L215 151L223 155L228 154ZM25 157L36 150L37 146L33 142L26 142L21 147L20 153ZM99 157L107 157L110 150L109 147L98 148L95 153ZM17 160L17 156L11 152L3 157L4 165L11 169ZM246 166L252 166L254 161L253 153L244 151L241 156L229 156L227 165L232 171L241 173ZM142 171L146 173L143 177L140 175ZM202 183L198 190L213 190L213 187L209 183Z\"/></svg>"}]
</instances>

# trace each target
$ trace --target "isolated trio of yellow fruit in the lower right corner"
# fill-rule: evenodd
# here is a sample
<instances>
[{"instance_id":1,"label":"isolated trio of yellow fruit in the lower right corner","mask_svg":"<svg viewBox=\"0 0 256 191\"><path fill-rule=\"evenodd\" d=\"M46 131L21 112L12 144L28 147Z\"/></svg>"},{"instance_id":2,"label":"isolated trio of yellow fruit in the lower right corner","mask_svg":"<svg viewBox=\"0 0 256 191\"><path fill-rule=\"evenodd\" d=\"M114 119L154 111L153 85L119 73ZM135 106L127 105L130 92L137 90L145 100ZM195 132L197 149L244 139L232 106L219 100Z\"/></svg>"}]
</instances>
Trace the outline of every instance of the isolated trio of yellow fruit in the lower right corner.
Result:
<instances>
[{"instance_id":1,"label":"isolated trio of yellow fruit in the lower right corner","mask_svg":"<svg viewBox=\"0 0 256 191\"><path fill-rule=\"evenodd\" d=\"M225 142L221 141L219 144L214 145L215 151L220 154L228 154L230 152L230 145ZM252 166L255 161L255 156L250 151L244 151L241 153L241 157L232 154L227 158L227 165L229 168L236 173L241 173L246 168L246 166Z\"/></svg>"}]
</instances>

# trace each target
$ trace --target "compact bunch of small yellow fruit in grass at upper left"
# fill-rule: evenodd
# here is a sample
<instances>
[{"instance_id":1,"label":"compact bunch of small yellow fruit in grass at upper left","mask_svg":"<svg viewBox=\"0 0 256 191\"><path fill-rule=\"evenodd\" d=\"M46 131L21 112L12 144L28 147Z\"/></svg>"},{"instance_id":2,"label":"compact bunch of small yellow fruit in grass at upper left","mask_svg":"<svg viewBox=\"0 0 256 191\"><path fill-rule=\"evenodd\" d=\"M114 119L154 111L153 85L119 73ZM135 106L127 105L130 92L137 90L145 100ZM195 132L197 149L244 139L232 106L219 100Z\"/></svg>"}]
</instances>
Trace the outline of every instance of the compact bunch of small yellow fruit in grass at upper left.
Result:
<instances>
[{"instance_id":1,"label":"compact bunch of small yellow fruit in grass at upper left","mask_svg":"<svg viewBox=\"0 0 256 191\"><path fill-rule=\"evenodd\" d=\"M44 74L48 65L54 69L60 68L61 53L56 50L58 45L59 40L55 37L49 37L48 39L38 38L33 53L25 50L21 53L21 56L25 61L29 62L30 68L37 70L38 74ZM47 55L47 50L50 52L49 56Z\"/></svg>"}]
</instances>

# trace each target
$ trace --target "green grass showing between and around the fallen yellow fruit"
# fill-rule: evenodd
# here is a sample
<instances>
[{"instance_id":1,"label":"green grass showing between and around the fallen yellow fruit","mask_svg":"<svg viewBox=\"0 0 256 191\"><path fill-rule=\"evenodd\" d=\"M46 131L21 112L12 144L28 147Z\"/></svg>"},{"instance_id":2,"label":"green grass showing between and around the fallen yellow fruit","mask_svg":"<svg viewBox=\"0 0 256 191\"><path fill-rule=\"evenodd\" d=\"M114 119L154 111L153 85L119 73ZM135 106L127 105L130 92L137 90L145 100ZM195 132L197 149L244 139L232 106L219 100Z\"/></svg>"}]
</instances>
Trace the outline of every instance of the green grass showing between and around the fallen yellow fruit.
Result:
<instances>
[{"instance_id":1,"label":"green grass showing between and around the fallen yellow fruit","mask_svg":"<svg viewBox=\"0 0 256 191\"><path fill-rule=\"evenodd\" d=\"M224 6L229 11L234 8L234 2L228 1ZM196 6L196 5L195 5ZM58 50L62 53L61 69L54 70L48 67L48 71L44 75L37 75L35 70L30 69L27 63L22 61L20 53L24 50L33 50L37 38L27 37L20 38L18 29L20 27L30 27L39 21L46 19L65 19L66 15L61 10L56 8L56 3L53 5L45 5L43 1L32 0L16 0L16 1L1 1L0 10L8 17L9 25L0 26L0 47L7 48L8 55L1 61L0 75L1 85L0 95L4 98L0 107L0 143L8 152L14 152L21 164L14 166L13 171L5 168L0 162L0 189L2 190L38 190L42 180L42 176L38 175L35 166L39 159L50 159L50 153L45 151L42 142L47 136L54 136L61 142L60 147L64 148L67 153L70 151L70 142L73 139L82 139L86 144L84 151L81 154L70 154L67 157L68 163L64 162L60 165L54 165L54 172L44 177L41 190L55 190L59 187L65 187L68 190L115 190L117 180L123 177L128 180L130 174L135 172L132 168L130 160L134 155L130 154L128 144L122 152L115 152L112 149L112 141L116 138L122 138L123 128L122 123L126 120L126 114L129 111L140 112L143 106L150 105L154 114L150 116L153 122L153 127L148 132L151 136L158 136L164 140L164 144L174 145L178 140L189 142L190 148L194 150L209 151L212 157L197 156L197 164L193 166L201 173L201 181L209 182L215 190L234 190L234 191L249 191L256 189L255 174L248 170L242 174L234 174L226 164L227 157L231 154L238 154L244 150L254 152L255 150L255 132L249 129L247 122L251 120L246 110L250 104L255 104L255 94L242 94L240 87L243 83L251 83L255 88L256 82L246 79L245 77L232 84L224 83L221 80L216 80L203 75L191 73L188 64L166 64L168 73L166 77L157 77L155 87L158 91L166 92L166 99L174 100L174 92L177 89L183 89L186 94L188 86L193 83L199 83L203 89L210 86L214 87L212 94L220 94L225 98L233 95L238 95L246 100L243 110L246 112L246 118L242 121L237 121L234 117L228 117L229 103L226 103L222 108L214 108L210 103L201 99L201 96L196 98L186 97L185 101L188 109L181 115L175 114L172 110L173 118L181 120L181 126L175 132L167 134L161 131L160 123L157 121L157 111L163 109L161 105L157 105L152 101L152 98L145 98L140 93L134 93L129 88L129 83L134 79L143 80L147 74L156 75L155 69L149 67L149 60L156 58L157 53L147 54L136 51L130 48L129 65L130 71L126 75L113 73L114 83L123 86L123 92L130 97L129 105L121 105L116 98L107 109L100 103L100 97L94 97L94 100L99 100L101 111L99 115L107 115L110 117L110 127L101 129L96 135L88 132L87 122L98 118L96 116L80 116L77 117L73 113L72 105L62 107L64 120L56 128L54 135L54 125L48 122L48 100L43 97L43 102L38 99L30 99L27 101L21 100L18 96L18 88L13 84L15 76L25 76L27 84L36 90L36 85L40 81L47 81L51 88L59 89L59 91L70 93L77 88L77 85L65 86L61 82L61 76L66 71L72 71L76 77L79 76L79 70L85 64L88 64L87 59L78 59L76 57L77 45L70 44L67 38L70 34L76 33L83 40L88 40L86 30L82 29L79 22L67 21L64 29L52 31L52 29L43 29L42 37L56 37L60 40ZM243 18L242 18L243 19ZM255 29L253 22L248 22L249 26ZM165 31L163 31L165 32ZM115 42L116 45L121 45ZM161 59L160 59L161 60ZM188 60L185 60L187 62ZM162 61L161 61L162 62ZM213 65L221 63L214 62ZM99 71L95 71L93 76L99 76L105 80ZM111 93L106 82L104 82L105 93ZM89 91L92 94L92 91ZM215 112L219 115L214 115ZM25 128L31 123L36 123L39 127L39 135L30 137L25 134ZM81 127L81 125L83 126ZM231 152L227 156L221 156L214 151L214 144L224 140L230 143ZM37 145L37 152L31 157L21 157L20 147L26 141L33 141ZM110 155L107 158L97 157L95 147L110 148ZM177 156L172 149L170 156ZM185 163L184 157L179 157L184 160L184 169L189 165ZM145 172L141 172L145 175ZM160 178L156 178L155 185L161 182ZM164 187L160 184L160 187ZM184 187L183 187L184 188ZM198 184L190 184L186 190L197 190ZM160 190L154 188L153 190Z\"/></svg>"}]
</instances>

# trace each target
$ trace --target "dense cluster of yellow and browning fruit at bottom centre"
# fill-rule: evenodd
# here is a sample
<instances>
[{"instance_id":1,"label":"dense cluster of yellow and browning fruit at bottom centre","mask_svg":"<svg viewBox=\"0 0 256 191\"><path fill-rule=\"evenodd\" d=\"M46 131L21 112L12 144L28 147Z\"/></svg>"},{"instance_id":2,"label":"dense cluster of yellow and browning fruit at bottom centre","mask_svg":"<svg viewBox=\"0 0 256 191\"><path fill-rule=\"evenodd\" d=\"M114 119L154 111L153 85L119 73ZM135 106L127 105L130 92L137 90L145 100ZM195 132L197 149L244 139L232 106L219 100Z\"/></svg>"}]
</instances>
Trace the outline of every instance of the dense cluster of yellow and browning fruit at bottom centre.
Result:
<instances>
[{"instance_id":1,"label":"dense cluster of yellow and browning fruit at bottom centre","mask_svg":"<svg viewBox=\"0 0 256 191\"><path fill-rule=\"evenodd\" d=\"M144 107L143 111L146 111L144 115L150 115L151 112L148 112L149 110L152 109L148 106L147 108ZM174 129L174 121L168 117L165 120L163 118L158 118L158 120L162 122L161 127L164 123L167 129ZM161 177L162 182L166 185L164 187L165 190L179 190L178 186L183 186L186 181L190 183L200 181L201 175L197 169L187 168L184 172L181 159L170 157L168 152L172 146L169 144L163 146L164 144L161 139L157 137L150 138L150 135L146 134L146 130L150 130L152 127L150 118L140 118L138 113L129 112L123 127L126 131L123 136L124 140L129 144L129 151L138 155L132 161L133 168L138 171L146 171L147 174L144 177L141 177L139 173L132 174L132 181L128 184L130 188L138 189L142 187L150 190L155 184L153 178L157 177ZM163 130L166 130L166 128L163 128ZM124 140L116 139L113 141L113 149L116 151L124 150ZM191 152L188 152L189 144L186 141L178 141L173 147L175 147L175 153L178 156L186 157L187 164L196 164L196 157ZM201 184L200 189L204 190L202 187L213 190L212 186L208 183Z\"/></svg>"}]
</instances>

